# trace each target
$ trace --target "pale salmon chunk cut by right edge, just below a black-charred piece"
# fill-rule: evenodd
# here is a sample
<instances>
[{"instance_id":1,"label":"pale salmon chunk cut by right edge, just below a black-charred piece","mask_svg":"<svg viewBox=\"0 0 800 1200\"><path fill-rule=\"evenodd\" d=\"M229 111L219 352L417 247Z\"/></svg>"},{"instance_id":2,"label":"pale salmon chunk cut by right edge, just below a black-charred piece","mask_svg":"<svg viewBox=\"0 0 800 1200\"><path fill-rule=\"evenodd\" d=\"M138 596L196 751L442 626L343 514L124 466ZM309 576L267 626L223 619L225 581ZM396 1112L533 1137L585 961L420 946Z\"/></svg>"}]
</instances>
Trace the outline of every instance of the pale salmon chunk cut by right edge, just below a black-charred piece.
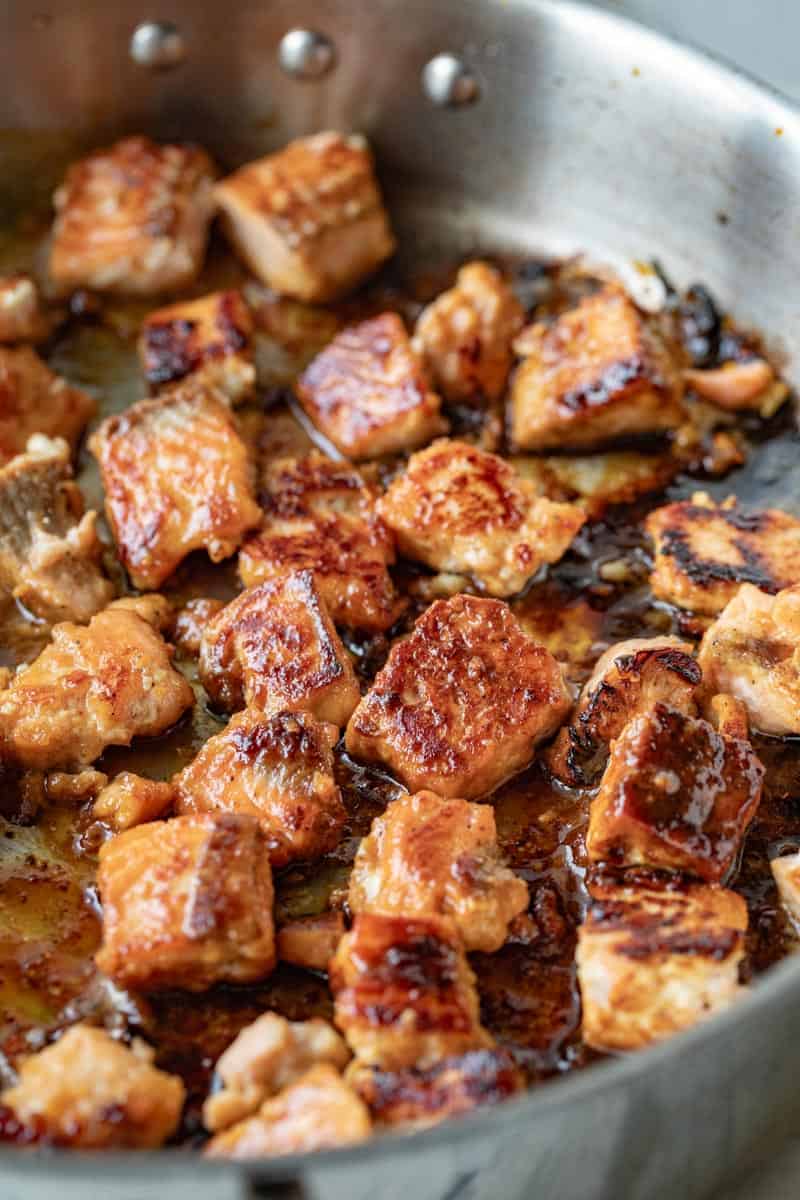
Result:
<instances>
[{"instance_id":1,"label":"pale salmon chunk cut by right edge, just below a black-charred piece","mask_svg":"<svg viewBox=\"0 0 800 1200\"><path fill-rule=\"evenodd\" d=\"M700 643L710 691L727 692L763 733L800 733L800 584L777 595L742 583Z\"/></svg>"}]
</instances>

